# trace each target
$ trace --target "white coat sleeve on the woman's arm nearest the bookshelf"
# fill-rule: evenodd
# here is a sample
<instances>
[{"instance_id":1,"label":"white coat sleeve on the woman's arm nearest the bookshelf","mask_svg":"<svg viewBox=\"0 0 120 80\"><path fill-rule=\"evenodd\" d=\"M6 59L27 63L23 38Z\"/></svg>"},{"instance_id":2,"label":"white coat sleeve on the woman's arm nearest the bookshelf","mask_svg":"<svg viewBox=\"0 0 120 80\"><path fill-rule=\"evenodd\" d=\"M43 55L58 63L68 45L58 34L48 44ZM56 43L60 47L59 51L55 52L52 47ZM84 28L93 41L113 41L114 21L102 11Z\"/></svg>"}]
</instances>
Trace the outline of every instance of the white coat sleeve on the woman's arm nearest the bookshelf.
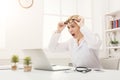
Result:
<instances>
[{"instance_id":1,"label":"white coat sleeve on the woman's arm nearest the bookshelf","mask_svg":"<svg viewBox=\"0 0 120 80\"><path fill-rule=\"evenodd\" d=\"M88 44L88 47L92 49L99 49L101 45L101 40L98 34L95 34L88 30L85 26L81 27L80 31L84 35L85 41Z\"/></svg>"}]
</instances>

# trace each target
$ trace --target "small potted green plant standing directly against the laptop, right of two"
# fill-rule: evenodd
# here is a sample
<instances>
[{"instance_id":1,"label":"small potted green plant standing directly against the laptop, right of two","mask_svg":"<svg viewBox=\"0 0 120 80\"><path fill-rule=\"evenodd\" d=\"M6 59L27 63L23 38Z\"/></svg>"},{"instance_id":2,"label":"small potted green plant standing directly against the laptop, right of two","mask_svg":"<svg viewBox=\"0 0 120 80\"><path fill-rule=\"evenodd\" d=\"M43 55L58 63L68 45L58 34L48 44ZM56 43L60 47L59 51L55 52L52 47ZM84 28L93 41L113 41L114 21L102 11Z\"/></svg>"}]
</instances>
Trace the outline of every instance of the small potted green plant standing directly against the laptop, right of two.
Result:
<instances>
[{"instance_id":1,"label":"small potted green plant standing directly against the laptop, right of two","mask_svg":"<svg viewBox=\"0 0 120 80\"><path fill-rule=\"evenodd\" d=\"M31 66L31 57L26 56L24 58L24 72L29 72L31 71L32 66Z\"/></svg>"}]
</instances>

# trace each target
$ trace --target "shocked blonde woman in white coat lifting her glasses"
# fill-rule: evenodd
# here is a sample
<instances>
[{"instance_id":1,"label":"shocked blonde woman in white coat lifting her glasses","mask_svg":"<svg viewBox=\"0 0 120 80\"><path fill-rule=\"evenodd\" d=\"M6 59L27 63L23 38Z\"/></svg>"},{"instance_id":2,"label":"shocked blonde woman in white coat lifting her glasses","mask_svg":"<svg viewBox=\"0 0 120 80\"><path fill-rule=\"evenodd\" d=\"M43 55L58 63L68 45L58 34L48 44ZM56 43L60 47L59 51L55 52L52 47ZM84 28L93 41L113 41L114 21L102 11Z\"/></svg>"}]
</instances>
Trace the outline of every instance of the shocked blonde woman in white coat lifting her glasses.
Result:
<instances>
[{"instance_id":1,"label":"shocked blonde woman in white coat lifting her glasses","mask_svg":"<svg viewBox=\"0 0 120 80\"><path fill-rule=\"evenodd\" d=\"M100 39L83 25L84 19L79 15L70 16L65 22L58 23L49 48L52 51L69 51L75 67L100 68L98 59ZM60 34L66 26L73 38L64 43L58 43Z\"/></svg>"}]
</instances>

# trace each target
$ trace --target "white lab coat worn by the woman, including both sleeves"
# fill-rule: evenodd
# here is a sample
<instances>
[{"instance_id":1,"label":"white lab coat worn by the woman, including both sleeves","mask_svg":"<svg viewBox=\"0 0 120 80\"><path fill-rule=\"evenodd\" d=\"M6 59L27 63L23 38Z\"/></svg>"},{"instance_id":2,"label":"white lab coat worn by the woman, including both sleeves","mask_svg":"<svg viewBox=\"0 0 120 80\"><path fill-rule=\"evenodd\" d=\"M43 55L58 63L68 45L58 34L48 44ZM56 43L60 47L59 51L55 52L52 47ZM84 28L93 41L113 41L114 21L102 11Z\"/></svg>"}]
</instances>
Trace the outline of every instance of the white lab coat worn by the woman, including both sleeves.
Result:
<instances>
[{"instance_id":1,"label":"white lab coat worn by the woman, including both sleeves","mask_svg":"<svg viewBox=\"0 0 120 80\"><path fill-rule=\"evenodd\" d=\"M101 68L98 51L101 41L97 35L88 31L85 27L80 29L84 39L78 45L75 39L70 39L64 43L58 43L60 33L54 33L49 44L51 51L69 51L73 65L75 67Z\"/></svg>"}]
</instances>

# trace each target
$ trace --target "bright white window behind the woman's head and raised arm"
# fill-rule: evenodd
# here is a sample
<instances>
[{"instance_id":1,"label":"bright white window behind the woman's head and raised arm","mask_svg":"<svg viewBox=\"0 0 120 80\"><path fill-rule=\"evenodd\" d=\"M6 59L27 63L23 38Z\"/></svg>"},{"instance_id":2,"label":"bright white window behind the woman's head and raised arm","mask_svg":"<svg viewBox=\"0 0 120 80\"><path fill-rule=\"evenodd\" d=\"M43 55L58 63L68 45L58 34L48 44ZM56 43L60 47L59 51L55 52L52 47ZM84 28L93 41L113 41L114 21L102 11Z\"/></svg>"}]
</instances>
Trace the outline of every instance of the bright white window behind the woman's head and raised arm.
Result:
<instances>
[{"instance_id":1,"label":"bright white window behind the woman's head and raised arm","mask_svg":"<svg viewBox=\"0 0 120 80\"><path fill-rule=\"evenodd\" d=\"M86 3L82 0L44 0L43 46L48 47L52 33L57 29L59 21L65 21L68 16L81 13L85 17L85 26L92 30L91 0ZM53 3L54 2L54 3ZM79 3L78 3L79 2ZM69 3L69 4L68 4ZM81 5L82 4L82 5ZM85 5L88 5L85 7ZM85 10L78 8L84 7ZM87 11L87 12L86 12ZM84 14L84 15L83 15ZM71 38L67 28L63 30L60 42ZM67 37L66 37L67 36Z\"/></svg>"}]
</instances>

